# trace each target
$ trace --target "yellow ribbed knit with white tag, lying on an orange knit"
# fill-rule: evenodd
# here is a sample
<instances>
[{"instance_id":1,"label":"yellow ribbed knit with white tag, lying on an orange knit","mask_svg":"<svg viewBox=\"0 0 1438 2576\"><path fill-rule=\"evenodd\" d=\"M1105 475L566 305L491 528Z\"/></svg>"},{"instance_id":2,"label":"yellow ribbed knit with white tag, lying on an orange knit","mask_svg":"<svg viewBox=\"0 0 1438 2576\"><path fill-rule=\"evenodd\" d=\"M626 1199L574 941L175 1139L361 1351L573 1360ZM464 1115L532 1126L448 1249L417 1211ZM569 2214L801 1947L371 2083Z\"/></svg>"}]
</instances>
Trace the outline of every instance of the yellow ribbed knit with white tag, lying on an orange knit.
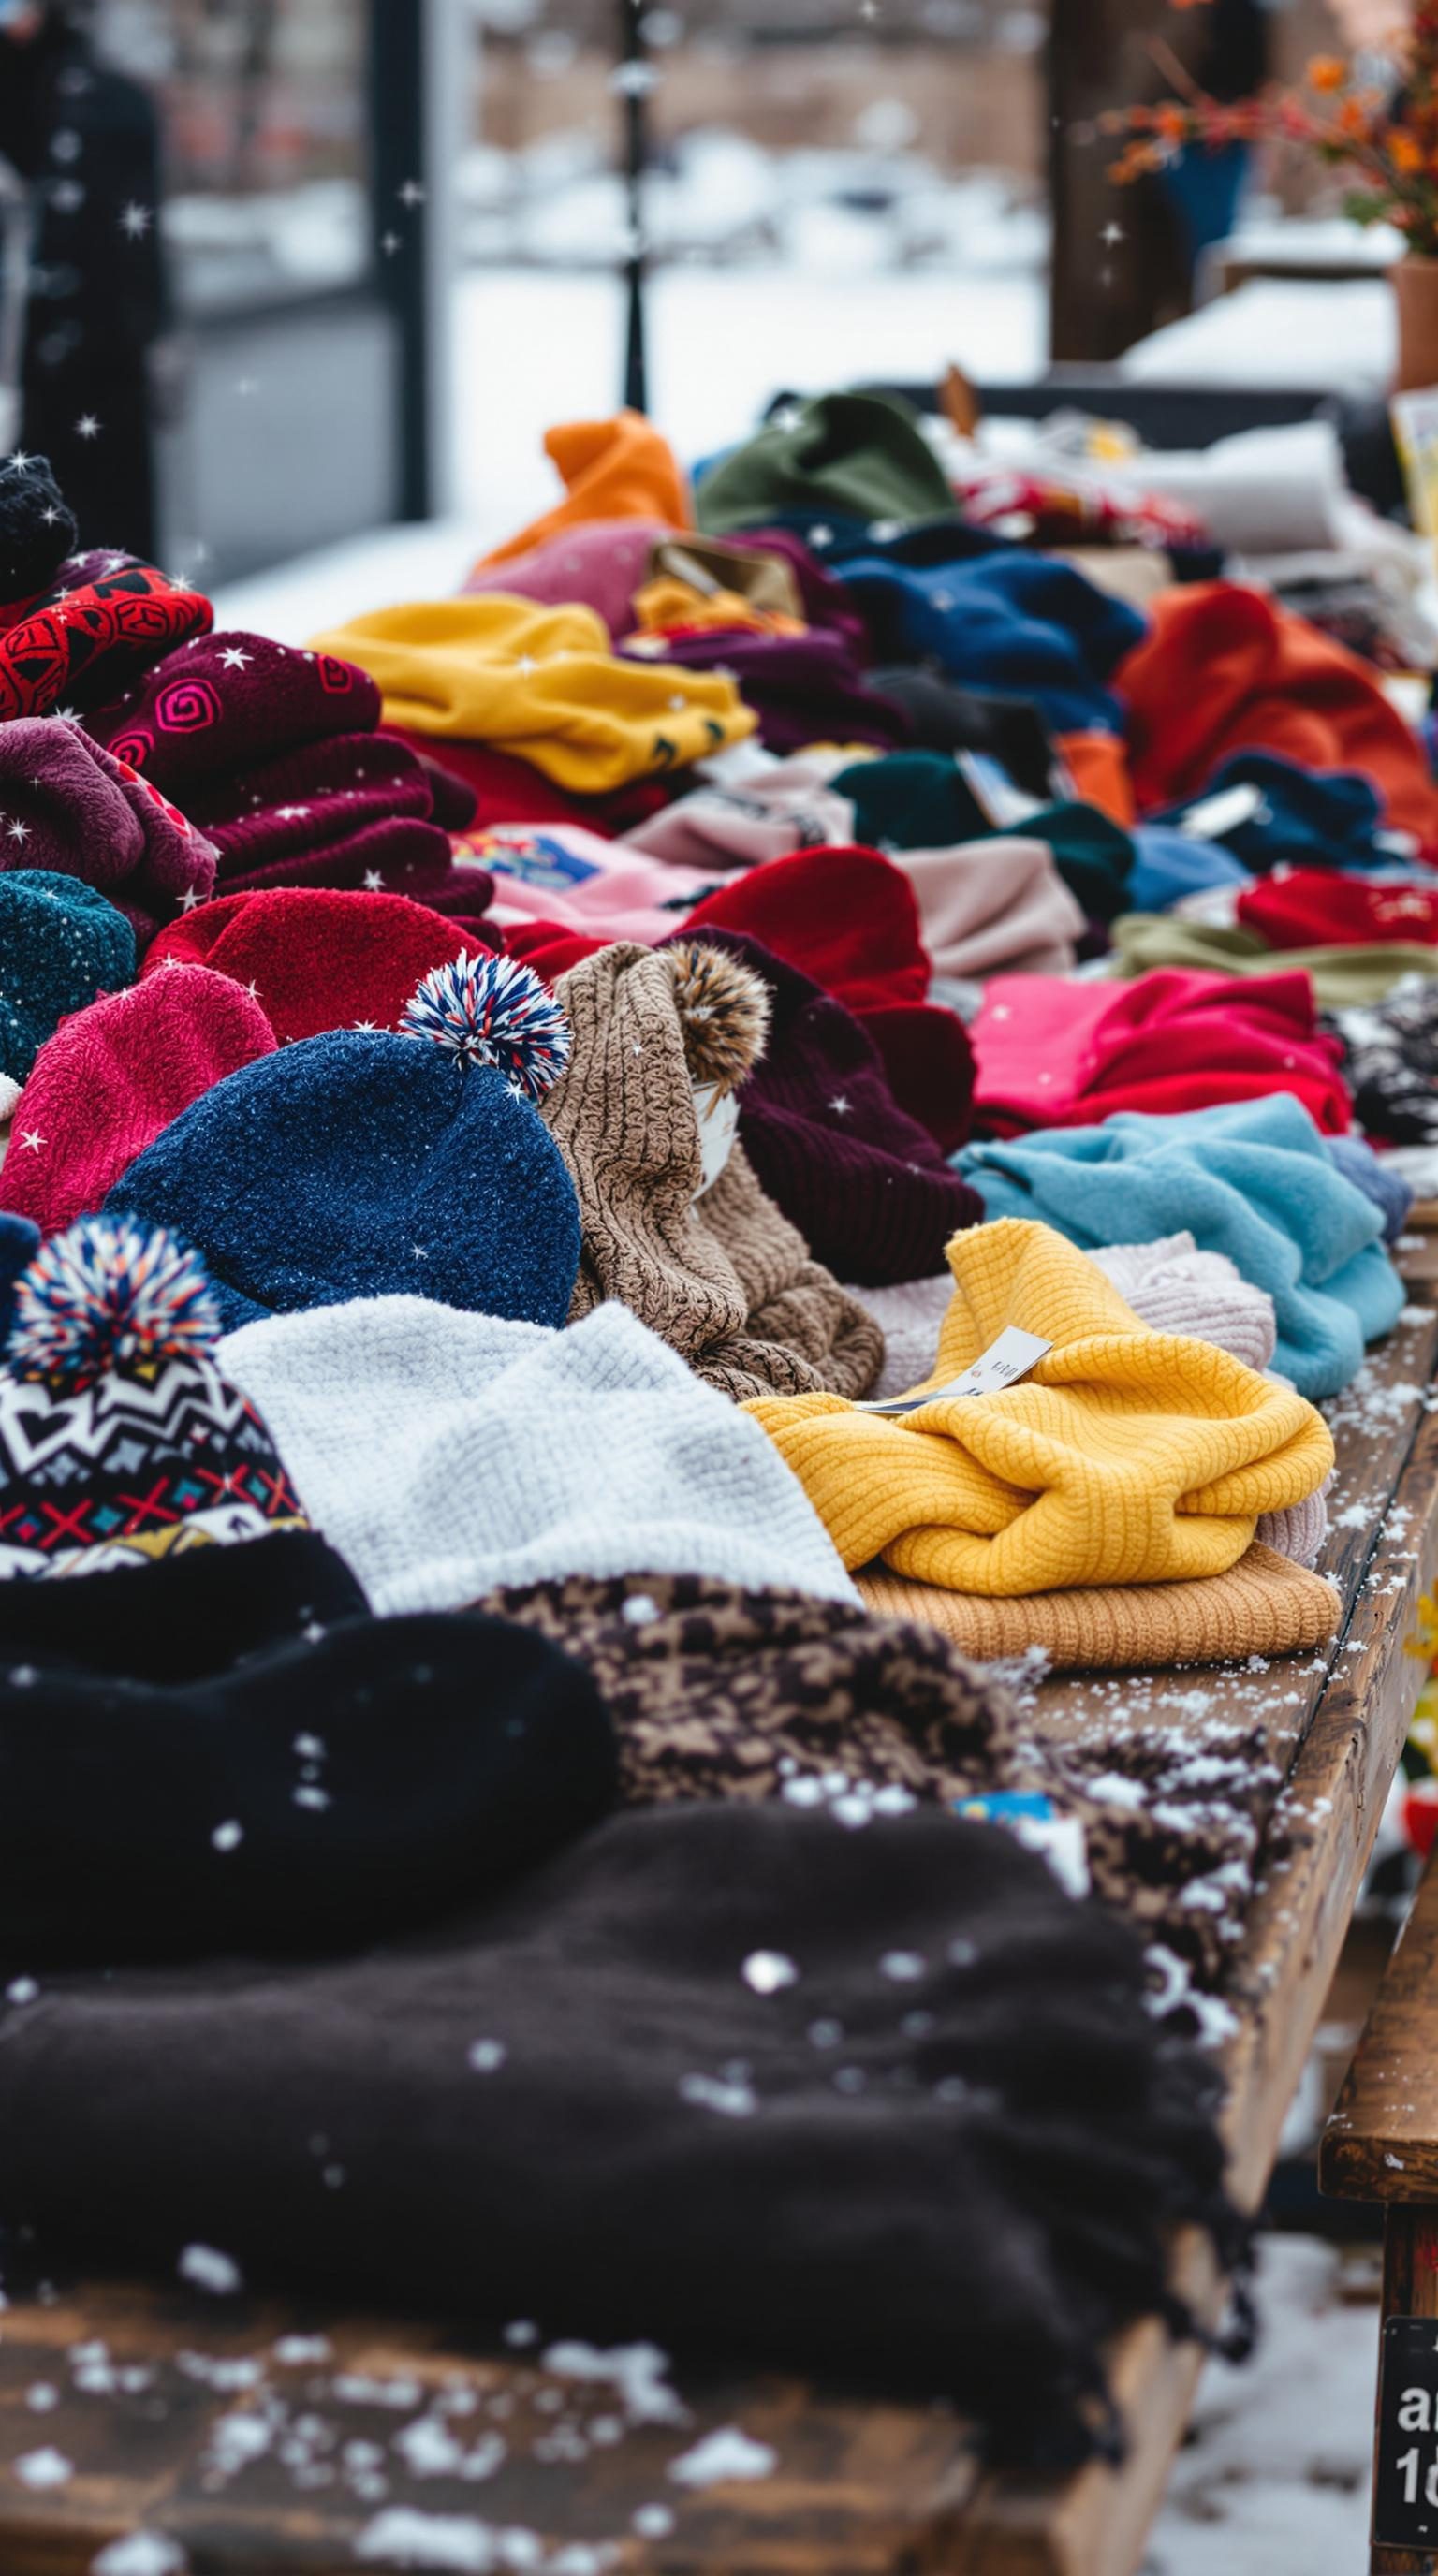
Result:
<instances>
[{"instance_id":1,"label":"yellow ribbed knit with white tag, lying on an orange knit","mask_svg":"<svg viewBox=\"0 0 1438 2576\"><path fill-rule=\"evenodd\" d=\"M881 1556L915 1582L995 1597L1224 1574L1260 1512L1327 1476L1332 1437L1312 1404L1211 1342L1149 1332L1051 1226L972 1226L948 1267L923 1386L956 1378L1008 1324L1054 1345L1028 1378L899 1417L840 1396L745 1404L845 1566Z\"/></svg>"}]
</instances>

